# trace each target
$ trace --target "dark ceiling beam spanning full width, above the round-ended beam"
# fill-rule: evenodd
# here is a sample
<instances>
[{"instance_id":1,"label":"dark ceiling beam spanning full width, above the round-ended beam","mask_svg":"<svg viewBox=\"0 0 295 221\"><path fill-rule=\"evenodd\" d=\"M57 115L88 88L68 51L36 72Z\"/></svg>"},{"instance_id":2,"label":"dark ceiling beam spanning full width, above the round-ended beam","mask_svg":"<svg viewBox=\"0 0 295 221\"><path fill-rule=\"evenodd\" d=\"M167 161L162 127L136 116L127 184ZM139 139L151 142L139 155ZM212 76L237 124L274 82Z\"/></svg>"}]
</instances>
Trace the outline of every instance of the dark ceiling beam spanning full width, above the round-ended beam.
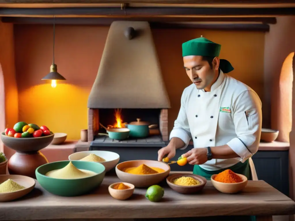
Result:
<instances>
[{"instance_id":1,"label":"dark ceiling beam spanning full width, above the round-ended beam","mask_svg":"<svg viewBox=\"0 0 295 221\"><path fill-rule=\"evenodd\" d=\"M295 8L0 8L0 17L275 17Z\"/></svg>"}]
</instances>

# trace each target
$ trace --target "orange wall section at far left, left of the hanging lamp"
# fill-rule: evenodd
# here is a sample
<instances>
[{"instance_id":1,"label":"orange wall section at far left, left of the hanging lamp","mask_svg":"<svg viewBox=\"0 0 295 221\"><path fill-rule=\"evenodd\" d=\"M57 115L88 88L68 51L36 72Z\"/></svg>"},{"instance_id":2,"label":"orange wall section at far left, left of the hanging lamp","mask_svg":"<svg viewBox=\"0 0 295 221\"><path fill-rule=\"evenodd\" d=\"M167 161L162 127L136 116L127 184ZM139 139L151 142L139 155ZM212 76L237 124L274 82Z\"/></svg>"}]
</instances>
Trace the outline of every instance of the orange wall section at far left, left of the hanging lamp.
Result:
<instances>
[{"instance_id":1,"label":"orange wall section at far left, left of the hanging lamp","mask_svg":"<svg viewBox=\"0 0 295 221\"><path fill-rule=\"evenodd\" d=\"M4 84L3 84L4 80ZM3 94L4 86L4 94ZM5 126L13 126L18 121L18 92L14 65L13 25L0 22L0 105L5 98L5 108L0 107L0 131ZM5 111L5 112L4 112ZM1 142L1 141L0 141ZM6 156L12 155L12 150L4 149Z\"/></svg>"}]
</instances>

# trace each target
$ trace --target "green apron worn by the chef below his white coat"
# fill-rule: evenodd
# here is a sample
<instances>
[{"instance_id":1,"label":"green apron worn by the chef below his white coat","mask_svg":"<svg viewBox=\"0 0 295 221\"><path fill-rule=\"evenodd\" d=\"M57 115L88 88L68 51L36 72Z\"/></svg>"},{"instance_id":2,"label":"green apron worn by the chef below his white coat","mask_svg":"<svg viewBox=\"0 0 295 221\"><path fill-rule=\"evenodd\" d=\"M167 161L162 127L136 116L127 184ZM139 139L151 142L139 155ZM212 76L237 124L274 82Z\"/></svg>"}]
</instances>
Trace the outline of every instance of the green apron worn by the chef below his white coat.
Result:
<instances>
[{"instance_id":1,"label":"green apron worn by the chef below his white coat","mask_svg":"<svg viewBox=\"0 0 295 221\"><path fill-rule=\"evenodd\" d=\"M199 165L194 165L194 170L193 170L193 174L205 177L207 180L211 179L211 176L213 174L219 174L224 170L230 169L233 172L237 173L237 174L243 174L244 176L246 176L248 178L248 180L252 179L251 176L251 171L250 171L250 165L249 165L249 159L246 160L244 163L239 162L233 166L224 168L224 169L219 169L219 170L205 170L203 168L201 168ZM247 218L248 217L248 218ZM241 219L242 217L236 217L236 216L230 216L227 217L227 220L249 220L249 221L256 221L256 217L255 216L247 216L247 217L243 217L246 219ZM213 217L212 217L213 218ZM222 220L221 218L224 217L220 217L219 220ZM229 219L230 218L230 219ZM217 219L217 217L214 217L214 219Z\"/></svg>"}]
</instances>

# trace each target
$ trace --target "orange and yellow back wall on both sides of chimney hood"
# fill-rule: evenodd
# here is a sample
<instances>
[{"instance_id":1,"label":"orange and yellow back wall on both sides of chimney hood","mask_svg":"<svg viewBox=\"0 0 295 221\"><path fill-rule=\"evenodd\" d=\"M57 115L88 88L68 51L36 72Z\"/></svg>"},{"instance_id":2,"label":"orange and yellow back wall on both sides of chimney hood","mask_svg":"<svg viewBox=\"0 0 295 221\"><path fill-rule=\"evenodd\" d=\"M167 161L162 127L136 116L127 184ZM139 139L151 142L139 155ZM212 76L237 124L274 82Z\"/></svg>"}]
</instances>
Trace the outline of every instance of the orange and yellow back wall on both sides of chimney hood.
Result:
<instances>
[{"instance_id":1,"label":"orange and yellow back wall on both sides of chimney hood","mask_svg":"<svg viewBox=\"0 0 295 221\"><path fill-rule=\"evenodd\" d=\"M96 77L108 27L56 26L55 62L67 80L51 88L40 80L52 62L53 27L15 25L15 62L19 120L47 125L54 132L79 139L87 128L87 99ZM263 98L264 33L210 30L153 29L163 77L171 100L169 130L180 107L183 89L191 82L183 69L181 43L204 37L222 44L220 57L230 60L230 73Z\"/></svg>"}]
</instances>

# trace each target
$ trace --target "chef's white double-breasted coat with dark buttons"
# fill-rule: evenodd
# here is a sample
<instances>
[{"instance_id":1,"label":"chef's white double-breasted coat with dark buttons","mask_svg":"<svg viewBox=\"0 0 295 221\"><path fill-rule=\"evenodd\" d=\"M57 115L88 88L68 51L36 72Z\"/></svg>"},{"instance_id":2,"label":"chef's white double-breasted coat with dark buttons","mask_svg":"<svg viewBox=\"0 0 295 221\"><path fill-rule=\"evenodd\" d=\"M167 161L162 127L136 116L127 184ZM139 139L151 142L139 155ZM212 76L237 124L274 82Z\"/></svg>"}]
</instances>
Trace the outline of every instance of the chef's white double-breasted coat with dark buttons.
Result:
<instances>
[{"instance_id":1,"label":"chef's white double-breasted coat with dark buttons","mask_svg":"<svg viewBox=\"0 0 295 221\"><path fill-rule=\"evenodd\" d=\"M259 96L244 83L220 70L210 92L194 84L184 89L181 107L170 133L185 146L192 139L194 148L227 144L240 157L212 159L201 164L205 170L219 170L245 162L258 150L262 126Z\"/></svg>"}]
</instances>

